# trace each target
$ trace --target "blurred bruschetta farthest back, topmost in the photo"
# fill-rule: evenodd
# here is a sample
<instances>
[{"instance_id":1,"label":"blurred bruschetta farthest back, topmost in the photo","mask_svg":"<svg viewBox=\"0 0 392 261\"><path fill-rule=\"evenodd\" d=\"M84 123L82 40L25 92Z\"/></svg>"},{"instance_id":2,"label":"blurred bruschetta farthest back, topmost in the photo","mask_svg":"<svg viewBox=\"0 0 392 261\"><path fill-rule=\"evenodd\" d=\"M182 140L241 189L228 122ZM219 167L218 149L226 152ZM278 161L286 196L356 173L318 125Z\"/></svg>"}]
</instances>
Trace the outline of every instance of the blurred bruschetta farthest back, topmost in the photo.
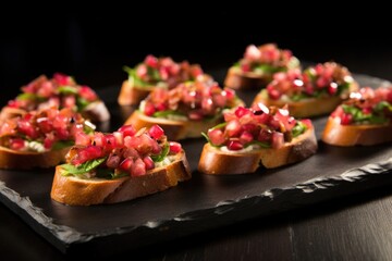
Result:
<instances>
[{"instance_id":1,"label":"blurred bruschetta farthest back, topmost in the photo","mask_svg":"<svg viewBox=\"0 0 392 261\"><path fill-rule=\"evenodd\" d=\"M271 82L274 73L296 67L301 67L299 60L290 50L279 49L275 44L249 45L244 57L229 69L224 86L260 89Z\"/></svg>"}]
</instances>

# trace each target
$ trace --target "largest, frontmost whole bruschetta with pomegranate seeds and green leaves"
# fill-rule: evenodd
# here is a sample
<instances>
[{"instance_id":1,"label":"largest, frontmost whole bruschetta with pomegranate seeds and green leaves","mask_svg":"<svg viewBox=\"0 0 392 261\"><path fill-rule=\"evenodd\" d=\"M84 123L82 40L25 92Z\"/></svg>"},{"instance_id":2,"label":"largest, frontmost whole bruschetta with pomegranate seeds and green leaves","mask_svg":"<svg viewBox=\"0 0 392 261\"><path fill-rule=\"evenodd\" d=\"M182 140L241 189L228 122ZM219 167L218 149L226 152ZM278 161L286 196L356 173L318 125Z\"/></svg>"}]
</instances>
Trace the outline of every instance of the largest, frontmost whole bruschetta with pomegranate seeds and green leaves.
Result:
<instances>
[{"instance_id":1,"label":"largest, frontmost whole bruschetta with pomegranate seeds and green leaves","mask_svg":"<svg viewBox=\"0 0 392 261\"><path fill-rule=\"evenodd\" d=\"M70 206L118 203L169 189L192 177L179 142L162 128L124 125L76 140L58 165L50 196Z\"/></svg>"}]
</instances>

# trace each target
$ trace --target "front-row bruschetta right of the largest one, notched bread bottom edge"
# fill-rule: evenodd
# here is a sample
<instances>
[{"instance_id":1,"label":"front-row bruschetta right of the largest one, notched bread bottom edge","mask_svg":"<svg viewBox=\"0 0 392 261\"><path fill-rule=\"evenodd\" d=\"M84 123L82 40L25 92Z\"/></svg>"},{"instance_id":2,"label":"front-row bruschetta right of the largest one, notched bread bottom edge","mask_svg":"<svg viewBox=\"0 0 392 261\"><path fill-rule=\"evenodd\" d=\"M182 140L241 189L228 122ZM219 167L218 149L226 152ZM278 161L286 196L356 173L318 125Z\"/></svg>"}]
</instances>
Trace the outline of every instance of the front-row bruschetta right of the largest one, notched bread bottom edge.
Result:
<instances>
[{"instance_id":1,"label":"front-row bruschetta right of the largest one, notched bread bottom edge","mask_svg":"<svg viewBox=\"0 0 392 261\"><path fill-rule=\"evenodd\" d=\"M205 134L198 170L205 174L246 174L303 161L318 148L310 120L295 120L286 108L238 107Z\"/></svg>"}]
</instances>

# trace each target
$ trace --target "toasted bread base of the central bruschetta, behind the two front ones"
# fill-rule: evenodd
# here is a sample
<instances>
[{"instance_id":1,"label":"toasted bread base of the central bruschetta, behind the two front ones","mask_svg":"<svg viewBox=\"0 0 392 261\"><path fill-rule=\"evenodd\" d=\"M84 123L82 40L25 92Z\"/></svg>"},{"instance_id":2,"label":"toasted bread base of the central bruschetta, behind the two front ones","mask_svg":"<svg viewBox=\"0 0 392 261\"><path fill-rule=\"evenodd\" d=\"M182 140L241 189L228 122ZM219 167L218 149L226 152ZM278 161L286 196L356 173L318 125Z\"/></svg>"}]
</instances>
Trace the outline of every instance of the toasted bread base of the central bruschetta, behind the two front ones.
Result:
<instances>
[{"instance_id":1,"label":"toasted bread base of the central bruschetta, behind the two front ones","mask_svg":"<svg viewBox=\"0 0 392 261\"><path fill-rule=\"evenodd\" d=\"M161 117L150 117L143 114L140 111L134 111L126 120L124 125L132 124L136 129L143 127L151 127L158 124L164 129L164 134L170 140L181 140L185 138L201 137L203 132L207 132L221 122L221 117L210 121L174 121Z\"/></svg>"}]
</instances>

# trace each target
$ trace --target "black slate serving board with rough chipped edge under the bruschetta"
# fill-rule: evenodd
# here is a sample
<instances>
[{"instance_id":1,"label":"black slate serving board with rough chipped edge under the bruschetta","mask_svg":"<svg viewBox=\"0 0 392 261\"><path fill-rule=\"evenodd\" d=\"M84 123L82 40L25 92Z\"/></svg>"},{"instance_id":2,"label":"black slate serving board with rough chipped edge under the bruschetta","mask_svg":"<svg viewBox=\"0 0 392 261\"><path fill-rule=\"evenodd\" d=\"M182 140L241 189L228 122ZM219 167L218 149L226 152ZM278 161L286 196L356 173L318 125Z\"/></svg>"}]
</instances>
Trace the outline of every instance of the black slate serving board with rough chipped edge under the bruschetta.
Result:
<instances>
[{"instance_id":1,"label":"black slate serving board with rough chipped edge under the bruschetta","mask_svg":"<svg viewBox=\"0 0 392 261\"><path fill-rule=\"evenodd\" d=\"M212 75L222 79L224 72ZM366 75L355 78L362 86L388 84ZM117 104L119 89L98 90L112 114L101 129L117 129L132 111ZM238 95L249 104L255 92ZM326 121L326 116L314 120L318 137ZM339 148L319 141L317 154L297 164L209 176L196 171L204 142L203 138L182 142L193 170L191 181L145 198L68 207L50 199L53 169L0 170L0 201L64 253L109 254L392 183L391 144Z\"/></svg>"}]
</instances>

